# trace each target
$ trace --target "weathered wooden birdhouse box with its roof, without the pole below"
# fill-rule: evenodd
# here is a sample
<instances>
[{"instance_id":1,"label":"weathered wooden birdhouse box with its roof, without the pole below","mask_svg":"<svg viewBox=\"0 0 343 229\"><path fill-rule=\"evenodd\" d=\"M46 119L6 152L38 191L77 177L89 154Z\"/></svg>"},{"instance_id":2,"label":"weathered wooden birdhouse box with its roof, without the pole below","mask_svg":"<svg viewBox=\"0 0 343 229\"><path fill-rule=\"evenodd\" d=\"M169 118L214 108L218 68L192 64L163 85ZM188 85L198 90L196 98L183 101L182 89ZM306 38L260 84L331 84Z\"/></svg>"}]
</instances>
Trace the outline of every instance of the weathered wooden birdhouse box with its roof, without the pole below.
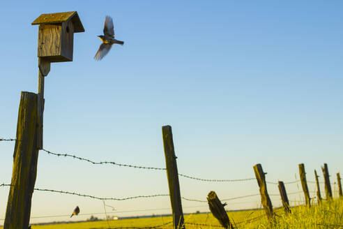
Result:
<instances>
[{"instance_id":1,"label":"weathered wooden birdhouse box with its roof, without the pole below","mask_svg":"<svg viewBox=\"0 0 343 229\"><path fill-rule=\"evenodd\" d=\"M74 33L84 32L76 11L42 14L31 24L39 24L38 57L49 62L73 61Z\"/></svg>"}]
</instances>

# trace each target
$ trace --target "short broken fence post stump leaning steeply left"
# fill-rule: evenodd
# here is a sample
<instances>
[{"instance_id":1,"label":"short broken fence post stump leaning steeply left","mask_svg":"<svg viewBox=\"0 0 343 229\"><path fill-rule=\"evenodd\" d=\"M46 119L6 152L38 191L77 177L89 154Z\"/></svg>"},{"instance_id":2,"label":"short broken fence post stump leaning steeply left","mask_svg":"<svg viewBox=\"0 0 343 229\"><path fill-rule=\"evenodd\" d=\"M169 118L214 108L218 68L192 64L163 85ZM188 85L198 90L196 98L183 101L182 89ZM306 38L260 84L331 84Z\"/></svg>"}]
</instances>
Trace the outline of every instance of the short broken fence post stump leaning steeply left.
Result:
<instances>
[{"instance_id":1,"label":"short broken fence post stump leaning steeply left","mask_svg":"<svg viewBox=\"0 0 343 229\"><path fill-rule=\"evenodd\" d=\"M227 212L224 209L224 205L222 204L222 202L220 202L215 191L210 191L208 193L207 202L213 216L215 216L215 219L218 219L219 223L224 228L234 229L234 226L230 222L229 216L227 216Z\"/></svg>"}]
</instances>

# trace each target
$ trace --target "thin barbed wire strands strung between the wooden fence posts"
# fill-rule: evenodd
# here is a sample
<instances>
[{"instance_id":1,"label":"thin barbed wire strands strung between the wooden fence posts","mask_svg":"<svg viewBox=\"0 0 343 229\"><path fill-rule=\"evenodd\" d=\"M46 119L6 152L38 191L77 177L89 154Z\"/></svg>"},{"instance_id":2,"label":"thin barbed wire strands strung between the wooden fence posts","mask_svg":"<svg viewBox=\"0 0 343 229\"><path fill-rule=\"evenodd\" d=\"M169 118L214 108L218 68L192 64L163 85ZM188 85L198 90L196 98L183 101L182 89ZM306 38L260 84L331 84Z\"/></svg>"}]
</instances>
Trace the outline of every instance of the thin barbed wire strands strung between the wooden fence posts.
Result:
<instances>
[{"instance_id":1,"label":"thin barbed wire strands strung between the wooden fence posts","mask_svg":"<svg viewBox=\"0 0 343 229\"><path fill-rule=\"evenodd\" d=\"M16 141L15 139L12 138L0 138L0 141ZM136 168L136 169L142 169L142 170L167 170L167 168L156 168L156 167L147 167L147 166L142 166L142 165L132 165L132 164L125 164L125 163L117 163L114 161L93 161L89 158L84 158L84 157L80 157L80 156L76 156L75 154L59 154L59 153L54 153L51 152L47 149L42 149L43 152L46 152L48 155L51 156L58 156L58 157L67 157L67 158L73 158L75 160L79 160L79 161L85 161L88 163L91 163L93 165L116 165L116 166L120 166L120 167L128 167L128 168ZM256 180L256 178L254 177L248 177L245 179L204 179L204 178L199 178L199 177L195 177L192 175L184 175L181 173L178 173L179 177L185 177L187 179L194 179L200 182L247 182L247 181L252 181L252 180ZM300 182L300 180L295 180L295 181L291 181L291 182L284 182L284 184L298 184L298 182ZM315 182L312 181L307 181L309 183L313 183L315 184ZM277 185L277 182L270 182L270 181L266 181L267 184L274 184ZM320 182L321 184L323 184L324 182ZM11 186L11 184L0 184L1 186ZM169 196L169 194L153 194L153 195L137 195L137 196L130 196L130 197L125 197L125 198L109 198L109 197L99 197L96 195L88 195L88 194L84 194L84 193L76 193L76 192L71 192L71 191L59 191L59 190L54 190L54 189L40 189L40 188L35 188L35 191L45 191L45 192L51 192L51 193L62 193L62 194L66 194L66 195L77 195L80 197L84 197L84 198L92 198L92 199L96 199L96 200L102 200L103 205L104 205L104 210L105 210L105 216L106 216L106 220L108 223L108 227L109 229L125 229L125 227L118 227L118 228L111 228L107 219L107 212L106 212L106 206L108 207L109 205L105 204L105 200L116 200L116 201L121 201L121 200L133 200L133 199L137 199L137 198L157 198L157 197L162 197L162 196ZM300 190L298 189L298 191L295 192L291 192L288 193L288 195L294 195L294 194L300 194ZM238 200L238 199L244 199L244 198L250 198L250 197L254 197L254 196L259 196L261 195L260 193L254 193L254 194L250 194L250 195L241 195L241 196L237 196L234 198L223 198L222 201L231 201L231 200ZM275 194L275 193L271 193L269 194L270 196L280 196L280 194ZM192 199L192 198L185 198L183 196L181 196L181 198L183 200L187 200L187 201L192 201L192 202L208 202L207 200L197 200L197 199ZM303 200L290 200L289 202L294 202L294 203L302 203L304 202ZM112 206L109 206L112 207ZM135 212L135 211L132 211ZM264 215L263 215L264 216ZM245 221L241 221L238 223L235 223L236 226L238 226L239 224L242 223L249 223L249 222L253 222L256 221L258 219L261 219L263 216L258 216L255 217L254 219L247 219ZM35 218L34 216L31 218ZM36 217L38 218L38 217ZM137 228L137 229L148 229L148 228L160 228L162 226L166 226L167 224L170 224L172 222L168 222L168 223L163 223L161 225L158 226L146 226L146 227L127 227L127 228ZM190 222L185 222L185 224L190 224L190 225L195 225L195 226L210 226L210 227L222 227L219 225L213 225L213 224L204 224L204 223L190 223Z\"/></svg>"}]
</instances>

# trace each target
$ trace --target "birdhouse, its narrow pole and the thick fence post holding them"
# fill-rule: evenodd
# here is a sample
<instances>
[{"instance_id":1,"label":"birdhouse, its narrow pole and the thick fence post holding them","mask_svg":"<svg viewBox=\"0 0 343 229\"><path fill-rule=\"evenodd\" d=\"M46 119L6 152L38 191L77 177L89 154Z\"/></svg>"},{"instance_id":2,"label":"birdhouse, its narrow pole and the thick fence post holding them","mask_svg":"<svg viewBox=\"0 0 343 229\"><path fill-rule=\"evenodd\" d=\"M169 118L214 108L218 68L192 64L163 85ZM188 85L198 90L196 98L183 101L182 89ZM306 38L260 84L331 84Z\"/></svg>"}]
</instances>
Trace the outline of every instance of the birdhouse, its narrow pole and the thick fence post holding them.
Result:
<instances>
[{"instance_id":1,"label":"birdhouse, its narrow pole and the thick fence post holding them","mask_svg":"<svg viewBox=\"0 0 343 229\"><path fill-rule=\"evenodd\" d=\"M76 11L43 14L32 24L39 24L38 94L22 92L4 229L29 228L38 151L43 149L44 78L50 63L73 61L74 33L84 31Z\"/></svg>"}]
</instances>

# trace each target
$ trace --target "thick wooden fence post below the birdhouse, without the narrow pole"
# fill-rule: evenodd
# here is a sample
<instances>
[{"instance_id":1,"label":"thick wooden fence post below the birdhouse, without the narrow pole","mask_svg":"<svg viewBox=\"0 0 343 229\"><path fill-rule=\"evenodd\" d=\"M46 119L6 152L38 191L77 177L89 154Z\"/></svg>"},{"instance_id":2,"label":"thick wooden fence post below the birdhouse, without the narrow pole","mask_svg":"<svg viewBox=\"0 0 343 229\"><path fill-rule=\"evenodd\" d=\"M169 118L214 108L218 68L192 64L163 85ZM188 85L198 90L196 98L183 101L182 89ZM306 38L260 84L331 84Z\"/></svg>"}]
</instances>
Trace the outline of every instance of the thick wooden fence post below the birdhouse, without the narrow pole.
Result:
<instances>
[{"instance_id":1,"label":"thick wooden fence post below the birdhouse, without the narrow pole","mask_svg":"<svg viewBox=\"0 0 343 229\"><path fill-rule=\"evenodd\" d=\"M22 91L4 229L29 228L37 175L37 121L37 94Z\"/></svg>"}]
</instances>

